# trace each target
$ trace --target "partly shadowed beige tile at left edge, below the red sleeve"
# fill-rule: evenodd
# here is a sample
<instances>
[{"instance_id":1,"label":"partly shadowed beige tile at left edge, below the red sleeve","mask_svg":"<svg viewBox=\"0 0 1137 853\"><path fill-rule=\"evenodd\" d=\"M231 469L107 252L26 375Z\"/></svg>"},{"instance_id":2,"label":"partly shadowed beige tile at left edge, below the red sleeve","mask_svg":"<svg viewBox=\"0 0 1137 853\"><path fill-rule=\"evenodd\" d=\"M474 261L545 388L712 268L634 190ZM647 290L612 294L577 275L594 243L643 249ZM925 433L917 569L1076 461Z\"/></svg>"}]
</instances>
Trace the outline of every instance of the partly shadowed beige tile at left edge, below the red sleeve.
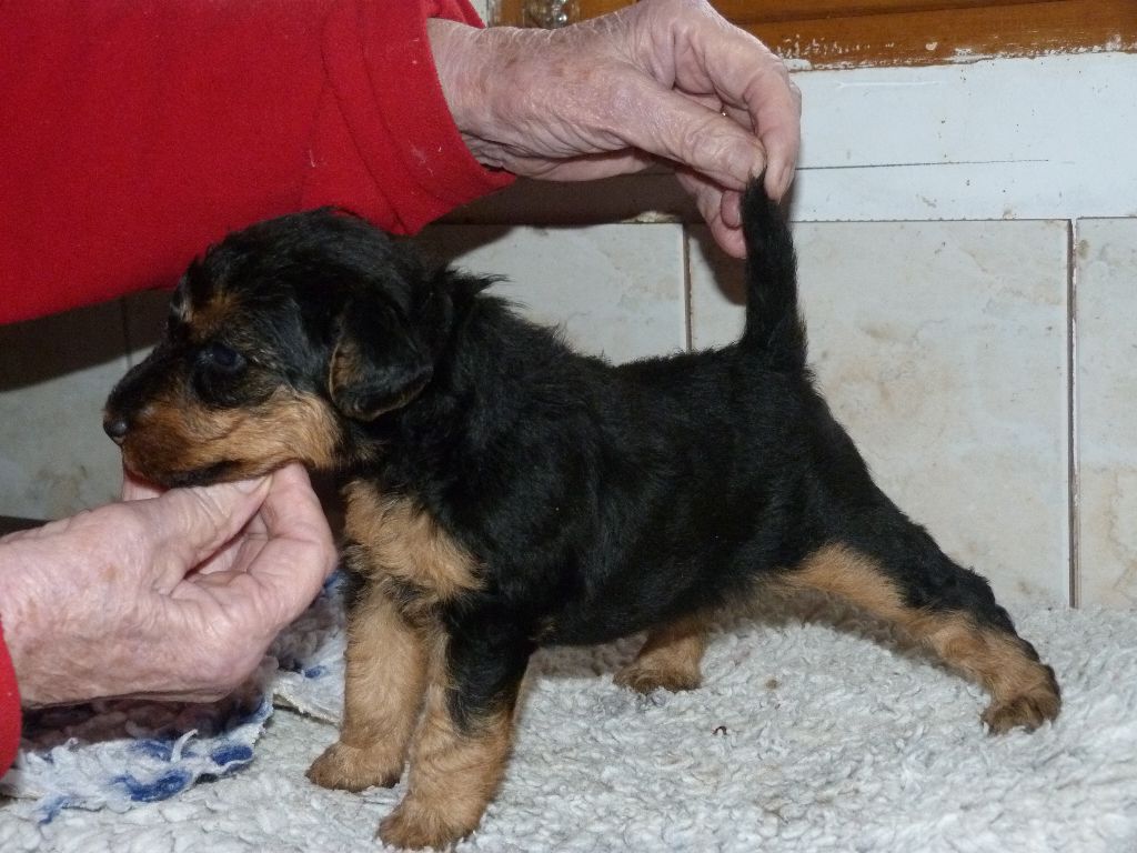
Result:
<instances>
[{"instance_id":1,"label":"partly shadowed beige tile at left edge, below the red sleeve","mask_svg":"<svg viewBox=\"0 0 1137 853\"><path fill-rule=\"evenodd\" d=\"M0 515L53 519L117 496L101 412L123 353L117 303L0 326Z\"/></svg>"}]
</instances>

